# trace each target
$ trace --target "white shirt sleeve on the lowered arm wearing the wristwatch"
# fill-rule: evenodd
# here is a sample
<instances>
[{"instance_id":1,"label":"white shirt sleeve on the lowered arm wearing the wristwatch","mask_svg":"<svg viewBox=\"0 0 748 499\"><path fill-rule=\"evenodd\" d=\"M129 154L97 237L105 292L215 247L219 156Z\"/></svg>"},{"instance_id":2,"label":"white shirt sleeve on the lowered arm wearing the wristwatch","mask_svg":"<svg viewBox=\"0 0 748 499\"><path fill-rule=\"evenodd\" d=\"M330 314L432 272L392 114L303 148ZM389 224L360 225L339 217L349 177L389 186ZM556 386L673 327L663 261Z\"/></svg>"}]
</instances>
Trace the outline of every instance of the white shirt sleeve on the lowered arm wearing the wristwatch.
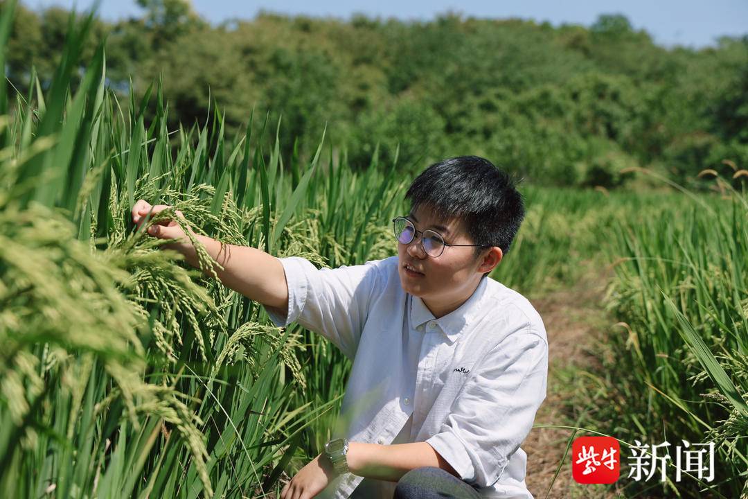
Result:
<instances>
[{"instance_id":1,"label":"white shirt sleeve on the lowered arm wearing the wristwatch","mask_svg":"<svg viewBox=\"0 0 748 499\"><path fill-rule=\"evenodd\" d=\"M509 458L530 433L545 399L545 334L532 328L509 334L473 371L440 431L426 442L462 480L488 487L500 478Z\"/></svg>"}]
</instances>

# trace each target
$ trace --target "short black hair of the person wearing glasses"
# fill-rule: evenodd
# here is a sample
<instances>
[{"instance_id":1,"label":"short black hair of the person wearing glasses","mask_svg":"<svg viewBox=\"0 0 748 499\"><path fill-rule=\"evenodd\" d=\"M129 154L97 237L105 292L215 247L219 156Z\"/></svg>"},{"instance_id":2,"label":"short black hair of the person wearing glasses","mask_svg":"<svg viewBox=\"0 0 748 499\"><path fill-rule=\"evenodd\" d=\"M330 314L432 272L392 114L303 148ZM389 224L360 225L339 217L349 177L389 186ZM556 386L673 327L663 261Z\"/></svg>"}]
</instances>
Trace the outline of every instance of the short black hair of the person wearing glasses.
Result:
<instances>
[{"instance_id":1,"label":"short black hair of the person wearing glasses","mask_svg":"<svg viewBox=\"0 0 748 499\"><path fill-rule=\"evenodd\" d=\"M525 213L512 177L479 156L434 163L411 183L405 199L412 211L423 206L440 218L462 218L473 244L498 246L504 254ZM484 249L476 247L475 257Z\"/></svg>"}]
</instances>

